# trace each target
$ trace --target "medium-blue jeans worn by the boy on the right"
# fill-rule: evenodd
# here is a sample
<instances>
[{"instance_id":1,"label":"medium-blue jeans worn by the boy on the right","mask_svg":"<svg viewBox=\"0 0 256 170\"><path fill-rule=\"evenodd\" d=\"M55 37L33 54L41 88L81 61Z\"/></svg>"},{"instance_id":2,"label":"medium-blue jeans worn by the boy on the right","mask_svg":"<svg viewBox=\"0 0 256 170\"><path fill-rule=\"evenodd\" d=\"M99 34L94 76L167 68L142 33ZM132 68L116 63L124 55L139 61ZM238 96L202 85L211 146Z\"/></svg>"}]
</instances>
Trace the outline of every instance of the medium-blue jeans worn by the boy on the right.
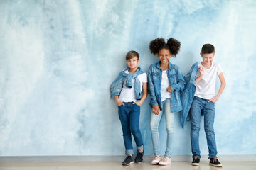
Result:
<instances>
[{"instance_id":1,"label":"medium-blue jeans worn by the boy on the right","mask_svg":"<svg viewBox=\"0 0 256 170\"><path fill-rule=\"evenodd\" d=\"M191 105L191 149L193 157L201 157L199 149L199 130L201 122L201 112L204 115L204 130L209 151L209 157L217 157L217 147L213 129L215 108L212 101L194 96Z\"/></svg>"}]
</instances>

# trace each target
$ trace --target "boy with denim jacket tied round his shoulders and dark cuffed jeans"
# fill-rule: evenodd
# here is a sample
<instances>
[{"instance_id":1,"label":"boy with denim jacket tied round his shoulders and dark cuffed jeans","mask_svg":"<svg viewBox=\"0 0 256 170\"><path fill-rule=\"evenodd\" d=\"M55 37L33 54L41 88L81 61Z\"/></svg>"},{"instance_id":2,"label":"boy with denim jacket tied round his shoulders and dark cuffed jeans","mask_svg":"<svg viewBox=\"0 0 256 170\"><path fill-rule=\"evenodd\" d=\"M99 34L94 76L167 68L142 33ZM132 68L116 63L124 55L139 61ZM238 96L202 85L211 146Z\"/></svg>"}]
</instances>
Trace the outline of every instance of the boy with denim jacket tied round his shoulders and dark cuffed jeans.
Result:
<instances>
[{"instance_id":1,"label":"boy with denim jacket tied round his shoulders and dark cuffed jeans","mask_svg":"<svg viewBox=\"0 0 256 170\"><path fill-rule=\"evenodd\" d=\"M123 165L141 163L143 161L144 147L142 134L139 130L140 106L147 96L146 73L138 67L139 54L129 51L126 56L127 69L119 73L111 86L111 97L115 98L118 106L119 119L122 125L124 146L127 157ZM143 92L143 94L142 94ZM132 135L137 145L137 156L133 161Z\"/></svg>"}]
</instances>

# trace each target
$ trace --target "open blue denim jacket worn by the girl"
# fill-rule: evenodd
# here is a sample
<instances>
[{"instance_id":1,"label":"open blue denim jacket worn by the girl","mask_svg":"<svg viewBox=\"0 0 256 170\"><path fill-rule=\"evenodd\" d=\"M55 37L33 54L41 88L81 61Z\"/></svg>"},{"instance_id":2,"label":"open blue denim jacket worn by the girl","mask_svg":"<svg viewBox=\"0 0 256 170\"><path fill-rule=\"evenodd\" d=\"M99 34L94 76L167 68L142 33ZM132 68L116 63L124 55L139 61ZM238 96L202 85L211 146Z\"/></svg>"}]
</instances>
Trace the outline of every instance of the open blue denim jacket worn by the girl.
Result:
<instances>
[{"instance_id":1,"label":"open blue denim jacket worn by the girl","mask_svg":"<svg viewBox=\"0 0 256 170\"><path fill-rule=\"evenodd\" d=\"M160 110L161 108L161 77L162 69L160 68L160 62L151 64L149 67L149 83L148 83L148 92L151 96L150 106L158 105ZM169 69L167 69L167 77L171 86L171 111L178 112L182 110L181 104L181 91L185 89L186 82L183 79L183 74L181 69L178 68L175 64L169 62Z\"/></svg>"}]
</instances>

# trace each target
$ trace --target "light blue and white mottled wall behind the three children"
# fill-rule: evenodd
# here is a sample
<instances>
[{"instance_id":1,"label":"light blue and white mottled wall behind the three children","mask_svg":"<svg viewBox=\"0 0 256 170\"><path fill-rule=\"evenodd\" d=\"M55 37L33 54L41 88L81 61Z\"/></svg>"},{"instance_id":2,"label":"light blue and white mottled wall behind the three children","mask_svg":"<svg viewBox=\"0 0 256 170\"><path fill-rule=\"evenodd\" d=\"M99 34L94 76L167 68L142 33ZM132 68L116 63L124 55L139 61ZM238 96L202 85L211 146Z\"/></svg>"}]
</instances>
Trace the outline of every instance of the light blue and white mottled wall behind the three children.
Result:
<instances>
[{"instance_id":1,"label":"light blue and white mottled wall behind the three children","mask_svg":"<svg viewBox=\"0 0 256 170\"><path fill-rule=\"evenodd\" d=\"M171 62L183 74L201 61L204 43L215 45L227 82L216 103L218 153L256 154L254 0L3 0L0 16L0 155L124 154L109 86L129 50L148 71L157 37L181 41ZM140 119L146 154L150 110L148 97ZM182 130L178 113L175 120L173 154L191 154L190 123ZM203 127L200 145L208 154Z\"/></svg>"}]
</instances>

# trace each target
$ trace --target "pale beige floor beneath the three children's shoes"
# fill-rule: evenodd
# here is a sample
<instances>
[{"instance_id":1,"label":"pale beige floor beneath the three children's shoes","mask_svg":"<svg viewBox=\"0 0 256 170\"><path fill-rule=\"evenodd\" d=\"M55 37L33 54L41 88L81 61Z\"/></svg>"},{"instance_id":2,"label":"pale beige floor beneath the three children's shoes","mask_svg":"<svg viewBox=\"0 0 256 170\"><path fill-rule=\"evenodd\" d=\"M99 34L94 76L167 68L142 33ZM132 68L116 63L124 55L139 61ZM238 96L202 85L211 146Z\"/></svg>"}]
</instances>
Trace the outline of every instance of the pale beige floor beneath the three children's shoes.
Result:
<instances>
[{"instance_id":1,"label":"pale beige floor beneath the three children's shoes","mask_svg":"<svg viewBox=\"0 0 256 170\"><path fill-rule=\"evenodd\" d=\"M122 166L121 162L0 162L0 170L60 170L60 169L125 169L125 170L256 170L256 162L222 162L223 167L209 166L208 162L200 162L200 166L191 166L190 162L172 162L168 166L151 165L150 162Z\"/></svg>"}]
</instances>

